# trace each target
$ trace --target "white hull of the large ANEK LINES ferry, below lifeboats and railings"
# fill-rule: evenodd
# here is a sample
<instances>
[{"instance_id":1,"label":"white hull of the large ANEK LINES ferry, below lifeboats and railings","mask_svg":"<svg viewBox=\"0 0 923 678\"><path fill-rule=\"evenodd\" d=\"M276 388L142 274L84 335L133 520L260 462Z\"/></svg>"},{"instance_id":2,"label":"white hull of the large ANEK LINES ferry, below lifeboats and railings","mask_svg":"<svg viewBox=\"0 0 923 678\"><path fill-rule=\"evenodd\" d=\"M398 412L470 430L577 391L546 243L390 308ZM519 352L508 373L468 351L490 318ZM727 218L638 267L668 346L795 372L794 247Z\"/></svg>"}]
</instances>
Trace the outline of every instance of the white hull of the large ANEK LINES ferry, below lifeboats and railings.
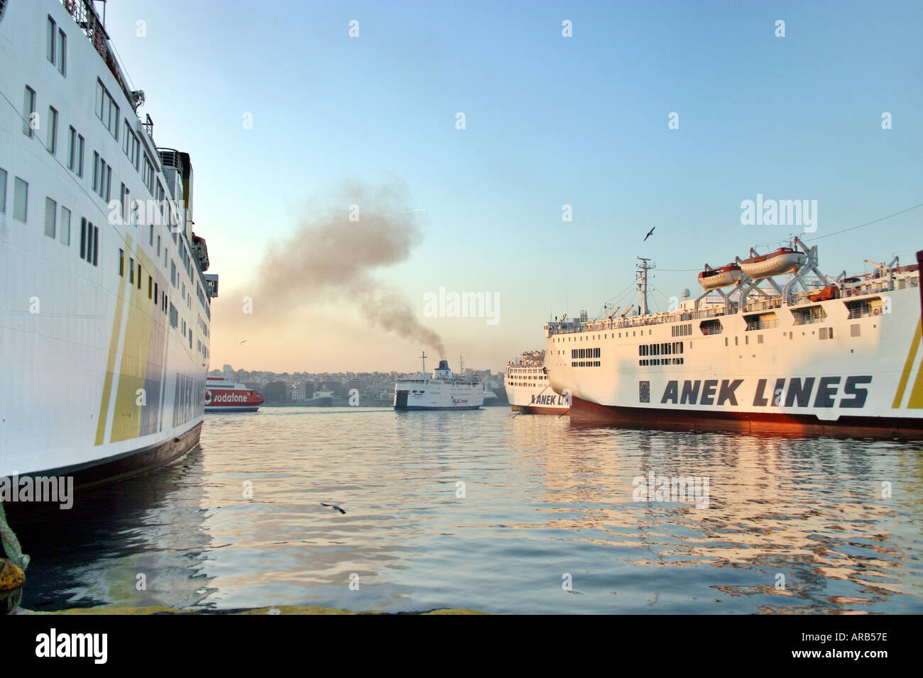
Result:
<instances>
[{"instance_id":1,"label":"white hull of the large ANEK LINES ferry, below lifeboats and railings","mask_svg":"<svg viewBox=\"0 0 923 678\"><path fill-rule=\"evenodd\" d=\"M869 301L853 314L846 302ZM796 324L774 308L774 327L749 328L744 315L655 325L548 332L545 367L552 387L571 397L572 421L634 427L750 433L923 435L923 350L918 279L895 289L820 303L819 322ZM674 327L691 333L674 335ZM668 357L640 356L642 344L669 345ZM676 351L682 344L681 353ZM581 363L571 351L599 348ZM665 352L661 351L661 355ZM641 361L648 364L641 365ZM654 364L656 361L656 364ZM593 366L590 366L593 365Z\"/></svg>"}]
</instances>

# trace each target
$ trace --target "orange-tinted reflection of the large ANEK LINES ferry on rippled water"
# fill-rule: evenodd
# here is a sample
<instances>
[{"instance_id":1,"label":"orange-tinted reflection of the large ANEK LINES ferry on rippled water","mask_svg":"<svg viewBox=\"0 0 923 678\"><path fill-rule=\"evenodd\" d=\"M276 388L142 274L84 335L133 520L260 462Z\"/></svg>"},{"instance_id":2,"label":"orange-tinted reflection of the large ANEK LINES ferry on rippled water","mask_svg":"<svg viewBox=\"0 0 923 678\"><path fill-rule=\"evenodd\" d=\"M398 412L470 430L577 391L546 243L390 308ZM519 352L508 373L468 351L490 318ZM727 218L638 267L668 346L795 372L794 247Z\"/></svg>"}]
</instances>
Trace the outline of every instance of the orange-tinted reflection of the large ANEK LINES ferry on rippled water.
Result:
<instances>
[{"instance_id":1,"label":"orange-tinted reflection of the large ANEK LINES ferry on rippled water","mask_svg":"<svg viewBox=\"0 0 923 678\"><path fill-rule=\"evenodd\" d=\"M552 515L517 527L628 549L641 568L722 568L713 589L776 597L756 611L881 611L893 594L919 609L919 446L576 425L556 442L532 455L544 458ZM709 477L709 506L633 501L632 478L651 470Z\"/></svg>"}]
</instances>

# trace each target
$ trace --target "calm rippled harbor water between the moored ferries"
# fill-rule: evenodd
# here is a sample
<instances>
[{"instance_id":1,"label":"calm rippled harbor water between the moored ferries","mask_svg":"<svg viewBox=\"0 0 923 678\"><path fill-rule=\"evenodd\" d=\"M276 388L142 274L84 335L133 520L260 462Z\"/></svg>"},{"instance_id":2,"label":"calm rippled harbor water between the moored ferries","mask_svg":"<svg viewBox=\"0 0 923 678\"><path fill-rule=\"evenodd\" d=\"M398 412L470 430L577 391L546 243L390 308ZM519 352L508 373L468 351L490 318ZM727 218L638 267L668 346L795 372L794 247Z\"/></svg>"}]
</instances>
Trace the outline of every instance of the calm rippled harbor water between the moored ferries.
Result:
<instances>
[{"instance_id":1,"label":"calm rippled harbor water between the moored ferries","mask_svg":"<svg viewBox=\"0 0 923 678\"><path fill-rule=\"evenodd\" d=\"M635 501L652 471L707 478L707 506ZM14 528L32 610L919 613L921 481L919 443L264 408Z\"/></svg>"}]
</instances>

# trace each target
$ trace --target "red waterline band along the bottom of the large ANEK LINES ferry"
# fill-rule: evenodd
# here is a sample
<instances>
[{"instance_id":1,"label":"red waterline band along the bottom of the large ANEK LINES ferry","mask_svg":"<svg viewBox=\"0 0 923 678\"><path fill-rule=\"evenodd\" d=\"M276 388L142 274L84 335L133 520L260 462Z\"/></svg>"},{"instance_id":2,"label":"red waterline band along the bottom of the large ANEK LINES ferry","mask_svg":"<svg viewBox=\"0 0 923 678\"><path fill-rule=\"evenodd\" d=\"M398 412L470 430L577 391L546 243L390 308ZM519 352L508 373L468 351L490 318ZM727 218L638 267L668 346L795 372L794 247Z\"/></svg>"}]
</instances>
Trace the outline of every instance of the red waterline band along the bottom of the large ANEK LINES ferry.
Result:
<instances>
[{"instance_id":1,"label":"red waterline band along the bottom of the large ANEK LINES ferry","mask_svg":"<svg viewBox=\"0 0 923 678\"><path fill-rule=\"evenodd\" d=\"M923 420L897 417L840 417L823 422L813 415L774 412L649 410L570 402L570 422L617 424L666 431L732 431L744 434L832 435L837 437L923 438Z\"/></svg>"}]
</instances>

